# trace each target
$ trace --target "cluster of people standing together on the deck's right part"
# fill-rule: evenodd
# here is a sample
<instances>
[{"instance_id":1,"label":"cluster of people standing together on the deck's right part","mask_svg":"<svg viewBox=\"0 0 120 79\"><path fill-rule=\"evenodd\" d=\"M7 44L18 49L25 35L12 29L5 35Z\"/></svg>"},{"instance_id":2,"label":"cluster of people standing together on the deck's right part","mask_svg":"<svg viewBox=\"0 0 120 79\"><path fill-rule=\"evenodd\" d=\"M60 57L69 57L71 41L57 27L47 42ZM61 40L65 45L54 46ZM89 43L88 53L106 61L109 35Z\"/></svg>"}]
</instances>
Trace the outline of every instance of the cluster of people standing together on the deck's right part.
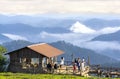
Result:
<instances>
[{"instance_id":1,"label":"cluster of people standing together on the deck's right part","mask_svg":"<svg viewBox=\"0 0 120 79\"><path fill-rule=\"evenodd\" d=\"M85 59L82 60L80 58L75 58L73 61L73 72L75 73L76 70L84 71L85 70Z\"/></svg>"}]
</instances>

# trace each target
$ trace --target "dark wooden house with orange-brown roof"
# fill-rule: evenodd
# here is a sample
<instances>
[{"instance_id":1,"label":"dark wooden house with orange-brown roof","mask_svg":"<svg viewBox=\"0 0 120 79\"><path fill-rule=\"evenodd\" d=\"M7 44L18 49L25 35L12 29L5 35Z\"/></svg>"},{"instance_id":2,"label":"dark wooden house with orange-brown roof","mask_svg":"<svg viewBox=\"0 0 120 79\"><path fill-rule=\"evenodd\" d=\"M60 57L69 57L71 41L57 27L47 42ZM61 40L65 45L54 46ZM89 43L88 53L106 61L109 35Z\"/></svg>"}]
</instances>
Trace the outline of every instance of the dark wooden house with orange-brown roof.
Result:
<instances>
[{"instance_id":1,"label":"dark wooden house with orange-brown roof","mask_svg":"<svg viewBox=\"0 0 120 79\"><path fill-rule=\"evenodd\" d=\"M46 43L33 44L7 53L10 57L8 71L23 73L42 73L48 62L57 61L63 51Z\"/></svg>"}]
</instances>

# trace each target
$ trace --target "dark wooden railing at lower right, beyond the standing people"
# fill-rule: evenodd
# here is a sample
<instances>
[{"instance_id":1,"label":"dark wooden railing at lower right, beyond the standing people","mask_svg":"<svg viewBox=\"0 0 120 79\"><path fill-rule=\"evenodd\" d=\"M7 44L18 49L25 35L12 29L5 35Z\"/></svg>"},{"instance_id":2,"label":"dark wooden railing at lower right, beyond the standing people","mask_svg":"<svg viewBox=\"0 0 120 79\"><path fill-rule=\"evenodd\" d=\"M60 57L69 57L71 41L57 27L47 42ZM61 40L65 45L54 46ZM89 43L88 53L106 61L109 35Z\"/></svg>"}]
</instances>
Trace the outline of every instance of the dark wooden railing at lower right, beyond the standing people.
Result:
<instances>
[{"instance_id":1,"label":"dark wooden railing at lower right, beyond the standing people","mask_svg":"<svg viewBox=\"0 0 120 79\"><path fill-rule=\"evenodd\" d=\"M116 67L101 67L100 65L91 65L90 74L96 74L97 76L105 77L120 77L120 68Z\"/></svg>"}]
</instances>

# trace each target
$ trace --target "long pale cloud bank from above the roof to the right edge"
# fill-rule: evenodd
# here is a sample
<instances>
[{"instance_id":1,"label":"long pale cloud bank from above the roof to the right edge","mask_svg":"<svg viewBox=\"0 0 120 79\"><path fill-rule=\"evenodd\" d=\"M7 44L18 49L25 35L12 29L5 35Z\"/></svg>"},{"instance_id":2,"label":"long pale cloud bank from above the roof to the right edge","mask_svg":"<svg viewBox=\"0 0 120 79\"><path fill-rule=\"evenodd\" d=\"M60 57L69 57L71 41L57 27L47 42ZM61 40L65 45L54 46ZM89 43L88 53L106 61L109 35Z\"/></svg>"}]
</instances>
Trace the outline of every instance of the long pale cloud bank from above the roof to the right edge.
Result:
<instances>
[{"instance_id":1,"label":"long pale cloud bank from above the roof to the right edge","mask_svg":"<svg viewBox=\"0 0 120 79\"><path fill-rule=\"evenodd\" d=\"M82 33L53 34L53 33L47 33L47 32L42 32L38 35L39 39L45 42L64 40L74 45L77 45L83 48L92 49L92 50L99 50L99 51L103 51L106 49L120 50L120 44L116 41L111 41L111 42L90 41L96 36L98 35L82 34Z\"/></svg>"}]
</instances>

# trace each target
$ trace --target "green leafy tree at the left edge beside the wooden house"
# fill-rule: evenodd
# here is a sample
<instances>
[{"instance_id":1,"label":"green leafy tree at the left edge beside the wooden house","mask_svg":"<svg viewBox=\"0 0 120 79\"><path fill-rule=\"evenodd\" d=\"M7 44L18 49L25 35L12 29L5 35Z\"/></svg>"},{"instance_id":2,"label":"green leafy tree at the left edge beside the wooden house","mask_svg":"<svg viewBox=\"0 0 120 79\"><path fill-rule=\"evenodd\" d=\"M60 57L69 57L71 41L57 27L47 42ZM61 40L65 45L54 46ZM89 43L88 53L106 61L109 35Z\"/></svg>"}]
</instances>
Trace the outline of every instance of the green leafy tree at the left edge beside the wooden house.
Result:
<instances>
[{"instance_id":1,"label":"green leafy tree at the left edge beside the wooden house","mask_svg":"<svg viewBox=\"0 0 120 79\"><path fill-rule=\"evenodd\" d=\"M4 71L5 69L6 58L3 56L5 52L7 52L6 48L0 46L0 71Z\"/></svg>"}]
</instances>

